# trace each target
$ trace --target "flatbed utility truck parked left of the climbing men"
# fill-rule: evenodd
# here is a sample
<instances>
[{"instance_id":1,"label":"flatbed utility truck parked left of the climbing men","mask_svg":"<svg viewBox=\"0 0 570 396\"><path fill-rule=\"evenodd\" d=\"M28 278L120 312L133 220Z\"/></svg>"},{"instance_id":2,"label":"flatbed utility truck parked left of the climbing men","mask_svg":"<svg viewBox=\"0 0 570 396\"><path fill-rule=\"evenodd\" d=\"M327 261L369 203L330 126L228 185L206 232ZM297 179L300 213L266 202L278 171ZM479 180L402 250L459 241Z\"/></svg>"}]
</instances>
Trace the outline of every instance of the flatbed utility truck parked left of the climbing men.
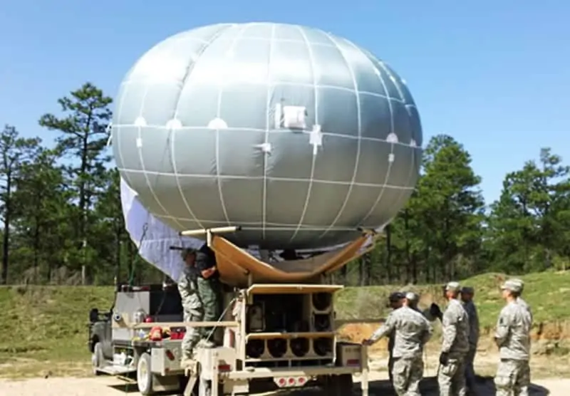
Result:
<instances>
[{"instance_id":1,"label":"flatbed utility truck parked left of the climbing men","mask_svg":"<svg viewBox=\"0 0 570 396\"><path fill-rule=\"evenodd\" d=\"M180 369L180 343L184 327L168 328L164 323L181 323L182 301L176 285L120 285L109 311L98 308L89 312L88 348L95 375L135 374L140 391L151 395L155 391L178 389L183 382ZM158 335L152 328L133 329L139 323L156 323ZM153 353L151 350L162 351ZM162 372L157 376L153 369ZM164 377L158 378L157 377ZM180 378L182 377L182 378Z\"/></svg>"}]
</instances>

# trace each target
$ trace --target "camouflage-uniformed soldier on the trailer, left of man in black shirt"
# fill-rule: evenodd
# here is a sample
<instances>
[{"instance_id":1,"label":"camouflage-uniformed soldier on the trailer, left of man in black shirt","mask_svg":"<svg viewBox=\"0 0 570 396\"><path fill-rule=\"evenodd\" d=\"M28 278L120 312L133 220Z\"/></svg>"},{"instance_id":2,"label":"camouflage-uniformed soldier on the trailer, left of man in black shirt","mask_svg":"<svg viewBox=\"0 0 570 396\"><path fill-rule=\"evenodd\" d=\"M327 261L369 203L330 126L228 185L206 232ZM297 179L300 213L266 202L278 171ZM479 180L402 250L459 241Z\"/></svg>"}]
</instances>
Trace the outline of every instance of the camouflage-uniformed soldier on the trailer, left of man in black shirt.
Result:
<instances>
[{"instance_id":1,"label":"camouflage-uniformed soldier on the trailer, left of man in black shirt","mask_svg":"<svg viewBox=\"0 0 570 396\"><path fill-rule=\"evenodd\" d=\"M182 251L182 260L185 262L184 271L178 280L178 291L182 298L182 308L184 308L184 321L195 322L202 321L204 317L204 308L198 294L196 251L193 249L184 249ZM200 340L199 330L193 327L187 327L184 338L182 339L182 360L180 365L185 368L192 359L192 350Z\"/></svg>"}]
</instances>

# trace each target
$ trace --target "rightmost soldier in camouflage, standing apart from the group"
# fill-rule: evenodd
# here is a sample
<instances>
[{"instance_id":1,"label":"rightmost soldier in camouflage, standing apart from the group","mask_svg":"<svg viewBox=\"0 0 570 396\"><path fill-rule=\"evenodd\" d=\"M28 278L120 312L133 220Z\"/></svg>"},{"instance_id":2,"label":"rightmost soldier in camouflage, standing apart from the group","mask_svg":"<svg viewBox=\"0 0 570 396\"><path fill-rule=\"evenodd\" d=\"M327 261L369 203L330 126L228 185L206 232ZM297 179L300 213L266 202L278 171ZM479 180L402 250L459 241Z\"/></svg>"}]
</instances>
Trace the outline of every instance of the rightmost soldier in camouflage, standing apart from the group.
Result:
<instances>
[{"instance_id":1,"label":"rightmost soldier in camouflage, standing apart from the group","mask_svg":"<svg viewBox=\"0 0 570 396\"><path fill-rule=\"evenodd\" d=\"M507 305L499 313L494 335L501 358L494 378L497 396L528 396L531 316L517 302L520 283L506 281L501 289Z\"/></svg>"}]
</instances>

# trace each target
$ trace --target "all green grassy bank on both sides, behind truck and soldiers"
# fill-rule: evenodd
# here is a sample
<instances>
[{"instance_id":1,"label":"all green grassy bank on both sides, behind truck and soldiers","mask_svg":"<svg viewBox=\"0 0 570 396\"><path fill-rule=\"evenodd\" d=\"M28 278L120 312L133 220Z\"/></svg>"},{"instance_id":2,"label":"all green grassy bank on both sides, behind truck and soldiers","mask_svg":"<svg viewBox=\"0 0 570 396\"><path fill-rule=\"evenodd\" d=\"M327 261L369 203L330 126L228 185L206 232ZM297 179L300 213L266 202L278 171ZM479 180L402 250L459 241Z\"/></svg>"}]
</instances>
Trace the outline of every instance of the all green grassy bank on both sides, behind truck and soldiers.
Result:
<instances>
[{"instance_id":1,"label":"all green grassy bank on both sides, behind truck and soldiers","mask_svg":"<svg viewBox=\"0 0 570 396\"><path fill-rule=\"evenodd\" d=\"M534 273L521 278L525 282L524 298L532 306L542 337L570 336L570 310L565 304L570 300L570 272ZM501 274L489 273L462 282L476 288L481 326L487 330L494 327L503 306L499 295L503 280ZM337 296L338 318L382 318L388 313L385 308L388 294L401 288L346 288ZM432 301L442 303L440 286L410 289L422 294L420 305L424 308ZM88 312L93 307L105 310L112 300L111 287L0 287L0 377L87 373ZM362 331L358 326L353 329Z\"/></svg>"}]
</instances>

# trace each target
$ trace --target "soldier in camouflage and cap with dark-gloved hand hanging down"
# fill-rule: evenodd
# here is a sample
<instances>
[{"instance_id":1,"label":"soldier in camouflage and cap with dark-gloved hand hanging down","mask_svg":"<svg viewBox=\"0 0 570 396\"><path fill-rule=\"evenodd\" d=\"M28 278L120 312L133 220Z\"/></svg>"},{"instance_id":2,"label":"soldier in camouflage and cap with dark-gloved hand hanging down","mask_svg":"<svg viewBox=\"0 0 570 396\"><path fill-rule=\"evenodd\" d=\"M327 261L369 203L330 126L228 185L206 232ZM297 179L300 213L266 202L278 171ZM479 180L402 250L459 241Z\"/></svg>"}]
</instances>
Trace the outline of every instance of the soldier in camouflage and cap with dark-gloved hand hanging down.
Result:
<instances>
[{"instance_id":1,"label":"soldier in camouflage and cap with dark-gloved hand hanging down","mask_svg":"<svg viewBox=\"0 0 570 396\"><path fill-rule=\"evenodd\" d=\"M437 383L440 395L466 395L465 357L469 352L469 318L458 300L460 284L447 283L445 298L449 303L442 317L443 343Z\"/></svg>"}]
</instances>

